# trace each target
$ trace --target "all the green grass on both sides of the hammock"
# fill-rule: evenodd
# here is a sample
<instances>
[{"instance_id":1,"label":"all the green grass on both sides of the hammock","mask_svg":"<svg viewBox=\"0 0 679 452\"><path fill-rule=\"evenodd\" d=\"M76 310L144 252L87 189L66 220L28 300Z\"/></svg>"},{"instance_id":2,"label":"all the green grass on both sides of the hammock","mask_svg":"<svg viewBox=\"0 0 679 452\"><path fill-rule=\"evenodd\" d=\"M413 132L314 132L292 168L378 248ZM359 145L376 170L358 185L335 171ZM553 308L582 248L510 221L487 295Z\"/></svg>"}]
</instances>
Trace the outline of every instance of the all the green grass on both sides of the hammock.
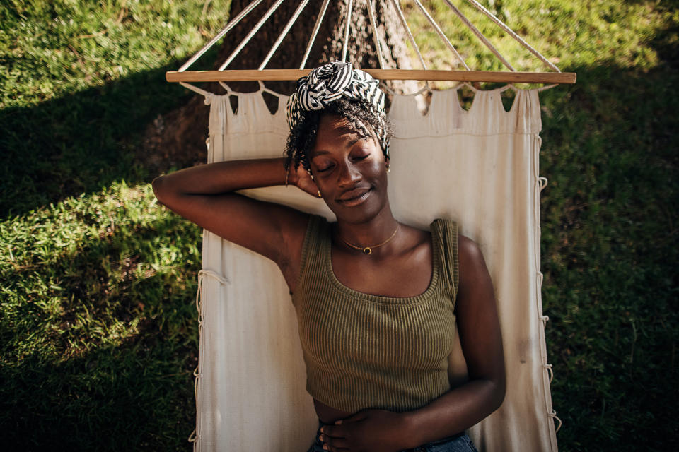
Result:
<instances>
[{"instance_id":1,"label":"all the green grass on both sides of the hammock","mask_svg":"<svg viewBox=\"0 0 679 452\"><path fill-rule=\"evenodd\" d=\"M455 2L459 4L460 2ZM679 446L679 12L673 2L484 1L578 83L540 93L542 285L562 451ZM501 69L443 1L472 69ZM518 70L541 63L460 6ZM163 73L228 0L0 6L0 429L8 450L187 450L200 231L153 202ZM416 7L429 66L454 67ZM214 53L199 61L211 66ZM417 64L414 64L416 66Z\"/></svg>"}]
</instances>

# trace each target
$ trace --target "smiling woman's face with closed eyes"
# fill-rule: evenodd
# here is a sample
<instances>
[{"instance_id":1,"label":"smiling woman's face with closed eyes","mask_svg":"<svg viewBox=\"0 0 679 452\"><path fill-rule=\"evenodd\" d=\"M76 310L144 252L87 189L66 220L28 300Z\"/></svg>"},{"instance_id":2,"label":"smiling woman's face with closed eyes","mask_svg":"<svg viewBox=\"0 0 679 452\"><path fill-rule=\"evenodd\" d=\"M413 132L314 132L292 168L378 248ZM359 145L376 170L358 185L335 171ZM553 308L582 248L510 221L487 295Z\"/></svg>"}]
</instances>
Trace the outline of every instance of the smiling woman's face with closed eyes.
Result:
<instances>
[{"instance_id":1,"label":"smiling woman's face with closed eyes","mask_svg":"<svg viewBox=\"0 0 679 452\"><path fill-rule=\"evenodd\" d=\"M346 119L321 117L309 158L316 185L338 220L366 222L388 205L380 145L350 130Z\"/></svg>"}]
</instances>

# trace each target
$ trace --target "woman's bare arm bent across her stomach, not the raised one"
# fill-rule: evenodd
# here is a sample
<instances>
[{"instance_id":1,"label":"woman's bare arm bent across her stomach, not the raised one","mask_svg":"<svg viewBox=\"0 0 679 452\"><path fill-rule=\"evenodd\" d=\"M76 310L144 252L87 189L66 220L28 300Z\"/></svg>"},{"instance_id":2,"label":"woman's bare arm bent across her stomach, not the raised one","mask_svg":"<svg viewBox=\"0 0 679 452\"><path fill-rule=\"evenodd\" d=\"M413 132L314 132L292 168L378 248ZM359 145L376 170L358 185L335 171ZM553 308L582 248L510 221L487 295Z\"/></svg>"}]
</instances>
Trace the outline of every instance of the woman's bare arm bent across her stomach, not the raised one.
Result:
<instances>
[{"instance_id":1,"label":"woman's bare arm bent across her stomach, not the raised one","mask_svg":"<svg viewBox=\"0 0 679 452\"><path fill-rule=\"evenodd\" d=\"M458 239L459 287L455 314L469 379L429 405L404 413L365 410L339 425L327 426L327 436L343 439L337 450L388 451L414 448L468 429L497 410L504 399L504 354L492 280L475 242ZM353 441L347 441L352 436ZM335 441L332 441L335 442ZM334 450L334 448L330 448Z\"/></svg>"}]
</instances>

